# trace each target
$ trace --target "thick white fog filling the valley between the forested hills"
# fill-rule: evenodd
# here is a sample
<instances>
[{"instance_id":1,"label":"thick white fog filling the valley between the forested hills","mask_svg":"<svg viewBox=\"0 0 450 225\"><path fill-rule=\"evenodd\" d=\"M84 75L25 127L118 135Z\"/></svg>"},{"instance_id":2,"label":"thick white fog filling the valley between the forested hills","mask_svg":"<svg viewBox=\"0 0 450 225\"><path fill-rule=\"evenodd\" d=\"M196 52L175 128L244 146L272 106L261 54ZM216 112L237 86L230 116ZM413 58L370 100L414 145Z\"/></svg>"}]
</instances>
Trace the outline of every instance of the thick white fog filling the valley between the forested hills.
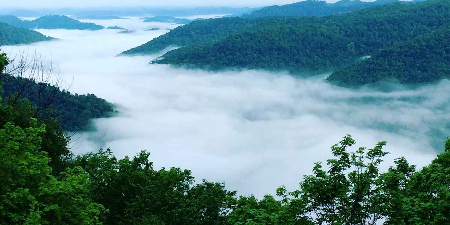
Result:
<instances>
[{"instance_id":1,"label":"thick white fog filling the valley between the forested hills","mask_svg":"<svg viewBox=\"0 0 450 225\"><path fill-rule=\"evenodd\" d=\"M328 74L295 78L149 64L157 55L117 54L178 25L80 21L135 32L40 29L59 40L2 47L9 55L36 51L45 62L58 63L72 93L92 93L117 105L116 117L97 119L96 131L72 137L76 154L111 148L122 158L147 149L157 168L190 169L197 181L224 181L238 194L262 197L279 185L297 188L344 135L353 135L357 147L386 140L386 170L401 156L419 168L428 164L450 131L448 80L352 90L323 81ZM145 31L154 27L160 30Z\"/></svg>"}]
</instances>

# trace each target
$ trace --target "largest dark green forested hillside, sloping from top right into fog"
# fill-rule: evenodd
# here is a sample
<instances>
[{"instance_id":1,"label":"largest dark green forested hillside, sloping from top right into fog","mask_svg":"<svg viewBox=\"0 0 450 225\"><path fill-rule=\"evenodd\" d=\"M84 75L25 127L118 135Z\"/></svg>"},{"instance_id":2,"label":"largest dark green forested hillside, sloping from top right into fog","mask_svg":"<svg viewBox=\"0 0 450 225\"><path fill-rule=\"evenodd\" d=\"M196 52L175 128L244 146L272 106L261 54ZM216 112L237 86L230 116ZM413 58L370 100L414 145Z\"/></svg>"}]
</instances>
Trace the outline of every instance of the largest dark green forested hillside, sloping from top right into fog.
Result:
<instances>
[{"instance_id":1,"label":"largest dark green forested hillside, sloping from top right into fog","mask_svg":"<svg viewBox=\"0 0 450 225\"><path fill-rule=\"evenodd\" d=\"M273 18L220 40L170 51L155 63L320 72L447 24L446 0L385 4L322 18Z\"/></svg>"}]
</instances>

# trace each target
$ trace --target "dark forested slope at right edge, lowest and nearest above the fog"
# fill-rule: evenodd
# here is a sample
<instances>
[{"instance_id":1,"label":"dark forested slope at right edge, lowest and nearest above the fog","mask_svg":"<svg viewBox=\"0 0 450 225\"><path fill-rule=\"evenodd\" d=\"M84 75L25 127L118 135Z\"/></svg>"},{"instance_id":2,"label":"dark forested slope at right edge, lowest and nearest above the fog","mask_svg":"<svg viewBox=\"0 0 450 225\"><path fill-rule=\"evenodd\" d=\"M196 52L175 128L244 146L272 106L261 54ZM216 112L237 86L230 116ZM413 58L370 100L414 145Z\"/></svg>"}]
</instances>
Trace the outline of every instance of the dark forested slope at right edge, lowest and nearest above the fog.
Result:
<instances>
[{"instance_id":1,"label":"dark forested slope at right edge, lowest and nearest above the fog","mask_svg":"<svg viewBox=\"0 0 450 225\"><path fill-rule=\"evenodd\" d=\"M327 80L360 86L378 81L428 83L450 77L450 27L383 48Z\"/></svg>"}]
</instances>

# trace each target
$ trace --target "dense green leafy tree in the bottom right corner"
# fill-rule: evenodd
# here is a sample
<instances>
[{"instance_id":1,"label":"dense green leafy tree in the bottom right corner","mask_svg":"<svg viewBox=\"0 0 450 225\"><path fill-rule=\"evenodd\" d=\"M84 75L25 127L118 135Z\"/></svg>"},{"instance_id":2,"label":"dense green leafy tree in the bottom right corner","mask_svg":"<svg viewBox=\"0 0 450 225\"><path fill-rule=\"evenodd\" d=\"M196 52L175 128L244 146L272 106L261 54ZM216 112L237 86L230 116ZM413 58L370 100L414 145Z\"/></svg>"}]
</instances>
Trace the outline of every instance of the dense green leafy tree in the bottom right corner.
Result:
<instances>
[{"instance_id":1,"label":"dense green leafy tree in the bottom right corner","mask_svg":"<svg viewBox=\"0 0 450 225\"><path fill-rule=\"evenodd\" d=\"M443 225L450 223L450 139L445 152L415 171L405 158L384 173L387 225Z\"/></svg>"}]
</instances>

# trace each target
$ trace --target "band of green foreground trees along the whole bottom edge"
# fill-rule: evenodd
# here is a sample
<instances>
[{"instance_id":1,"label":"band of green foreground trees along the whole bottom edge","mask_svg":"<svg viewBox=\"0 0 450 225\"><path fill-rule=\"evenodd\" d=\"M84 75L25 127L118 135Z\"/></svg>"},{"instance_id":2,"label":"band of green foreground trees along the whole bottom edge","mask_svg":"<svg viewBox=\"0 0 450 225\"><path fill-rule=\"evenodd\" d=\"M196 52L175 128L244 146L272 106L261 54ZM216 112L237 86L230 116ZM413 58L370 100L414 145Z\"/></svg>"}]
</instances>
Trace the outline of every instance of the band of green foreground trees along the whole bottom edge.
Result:
<instances>
[{"instance_id":1,"label":"band of green foreground trees along the whole bottom edge","mask_svg":"<svg viewBox=\"0 0 450 225\"><path fill-rule=\"evenodd\" d=\"M450 139L422 169L401 157L383 172L387 143L354 148L347 135L298 190L280 186L278 198L258 200L237 197L224 183L195 182L189 170L155 169L146 151L123 159L110 149L72 157L57 120L31 118L27 105L0 106L1 225L450 223Z\"/></svg>"}]
</instances>

